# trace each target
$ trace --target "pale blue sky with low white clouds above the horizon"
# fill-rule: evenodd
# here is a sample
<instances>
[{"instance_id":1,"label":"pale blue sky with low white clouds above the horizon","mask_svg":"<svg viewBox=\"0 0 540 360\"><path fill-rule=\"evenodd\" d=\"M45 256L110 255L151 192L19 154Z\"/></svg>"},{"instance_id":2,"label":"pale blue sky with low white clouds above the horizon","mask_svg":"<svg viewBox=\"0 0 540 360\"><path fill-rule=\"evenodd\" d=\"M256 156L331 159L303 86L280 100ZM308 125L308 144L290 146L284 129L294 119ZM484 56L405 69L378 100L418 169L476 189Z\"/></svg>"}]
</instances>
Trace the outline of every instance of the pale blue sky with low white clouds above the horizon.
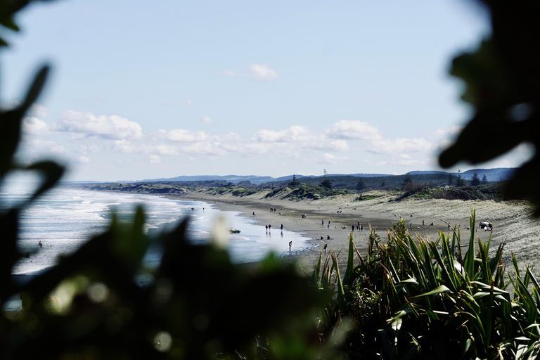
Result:
<instances>
[{"instance_id":1,"label":"pale blue sky with low white clouds above the horizon","mask_svg":"<svg viewBox=\"0 0 540 360\"><path fill-rule=\"evenodd\" d=\"M490 32L465 0L58 0L15 20L1 103L52 70L18 158L66 181L441 169L472 115L451 59Z\"/></svg>"}]
</instances>

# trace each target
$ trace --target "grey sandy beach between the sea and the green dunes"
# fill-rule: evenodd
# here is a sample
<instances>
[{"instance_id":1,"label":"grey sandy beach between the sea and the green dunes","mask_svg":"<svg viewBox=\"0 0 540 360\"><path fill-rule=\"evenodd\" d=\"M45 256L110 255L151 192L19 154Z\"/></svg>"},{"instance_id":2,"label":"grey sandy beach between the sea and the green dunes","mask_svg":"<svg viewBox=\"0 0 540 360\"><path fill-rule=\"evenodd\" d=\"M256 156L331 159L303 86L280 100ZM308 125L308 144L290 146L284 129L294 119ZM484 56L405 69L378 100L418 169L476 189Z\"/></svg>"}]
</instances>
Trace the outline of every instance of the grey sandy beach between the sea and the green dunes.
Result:
<instances>
[{"instance_id":1,"label":"grey sandy beach between the sea and the green dunes","mask_svg":"<svg viewBox=\"0 0 540 360\"><path fill-rule=\"evenodd\" d=\"M506 242L504 261L511 265L511 254L515 253L520 268L533 268L533 273L540 276L534 267L540 258L540 221L532 217L532 207L526 202L499 202L491 200L401 200L390 201L394 195L388 193L364 193L379 196L371 200L356 200L357 194L335 195L320 200L287 200L264 198L263 193L237 197L233 195L209 195L205 191L195 191L189 195L170 195L171 198L184 200L200 200L214 204L220 210L240 212L262 225L271 224L276 229L283 224L283 229L302 233L311 238L314 245L311 250L302 252L297 257L302 267L311 271L319 259L325 244L328 250L340 252L347 250L352 226L355 227L353 238L356 248L361 254L366 253L366 245L370 228L376 229L381 238L387 237L387 229L392 224L405 219L413 236L422 236L437 240L439 232L449 233L451 226L458 226L461 231L462 246L468 244L470 238L470 212L476 210L475 238L489 240L491 235L491 251L496 250L499 243ZM276 212L270 211L276 209ZM253 215L255 212L255 216ZM302 218L302 214L306 217ZM323 224L324 221L324 224ZM330 221L330 223L328 223ZM494 224L492 233L477 229L480 221ZM328 224L330 226L328 226ZM356 230L360 224L364 230ZM431 225L432 224L432 225ZM241 229L240 229L241 230ZM328 236L330 239L328 240ZM321 240L321 237L323 240ZM293 244L294 246L294 244ZM466 250L463 246L462 250ZM345 263L346 251L340 262ZM340 266L341 267L341 266Z\"/></svg>"}]
</instances>

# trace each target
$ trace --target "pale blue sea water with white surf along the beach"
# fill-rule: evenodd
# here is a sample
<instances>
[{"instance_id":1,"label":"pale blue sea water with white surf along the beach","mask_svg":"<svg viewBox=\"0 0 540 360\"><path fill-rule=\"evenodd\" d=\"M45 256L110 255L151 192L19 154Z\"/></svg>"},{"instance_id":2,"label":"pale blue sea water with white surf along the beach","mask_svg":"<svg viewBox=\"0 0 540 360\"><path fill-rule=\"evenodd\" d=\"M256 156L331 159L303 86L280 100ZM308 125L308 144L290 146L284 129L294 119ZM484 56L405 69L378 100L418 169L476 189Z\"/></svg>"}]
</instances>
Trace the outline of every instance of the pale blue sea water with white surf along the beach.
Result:
<instances>
[{"instance_id":1,"label":"pale blue sea water with white surf along the beach","mask_svg":"<svg viewBox=\"0 0 540 360\"><path fill-rule=\"evenodd\" d=\"M0 212L22 203L32 193L32 186L4 186L0 189ZM224 217L231 229L240 233L229 235L229 255L233 262L257 262L274 252L277 257L298 255L311 248L308 238L301 234L281 231L280 224L271 224L266 231L256 217L243 217L240 212L218 210L214 204L200 201L176 200L155 194L89 191L58 187L41 195L20 215L18 249L23 257L12 274L29 278L54 266L60 255L75 252L91 236L107 229L113 212L121 222L129 223L136 207L142 205L146 213L145 231L152 238L161 231L169 231L188 218L187 238L194 244L207 243L212 236L214 222ZM41 240L42 248L38 243ZM294 251L288 247L293 241ZM158 246L150 246L144 265L158 266L161 259ZM16 305L15 305L16 306Z\"/></svg>"}]
</instances>

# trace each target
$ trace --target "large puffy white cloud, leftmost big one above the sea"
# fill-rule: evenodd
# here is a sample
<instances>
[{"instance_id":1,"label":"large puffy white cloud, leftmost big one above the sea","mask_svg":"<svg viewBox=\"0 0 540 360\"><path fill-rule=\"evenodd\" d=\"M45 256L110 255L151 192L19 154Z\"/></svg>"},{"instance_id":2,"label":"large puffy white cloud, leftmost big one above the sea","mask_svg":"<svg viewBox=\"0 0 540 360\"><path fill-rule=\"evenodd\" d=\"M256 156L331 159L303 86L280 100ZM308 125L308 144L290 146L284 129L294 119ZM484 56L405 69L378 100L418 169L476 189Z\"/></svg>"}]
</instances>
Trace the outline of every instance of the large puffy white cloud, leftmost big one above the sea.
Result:
<instances>
[{"instance_id":1,"label":"large puffy white cloud, leftmost big one above the sea","mask_svg":"<svg viewBox=\"0 0 540 360\"><path fill-rule=\"evenodd\" d=\"M141 125L117 115L99 115L65 110L54 124L56 131L66 131L79 136L98 136L103 139L139 139L143 136Z\"/></svg>"}]
</instances>

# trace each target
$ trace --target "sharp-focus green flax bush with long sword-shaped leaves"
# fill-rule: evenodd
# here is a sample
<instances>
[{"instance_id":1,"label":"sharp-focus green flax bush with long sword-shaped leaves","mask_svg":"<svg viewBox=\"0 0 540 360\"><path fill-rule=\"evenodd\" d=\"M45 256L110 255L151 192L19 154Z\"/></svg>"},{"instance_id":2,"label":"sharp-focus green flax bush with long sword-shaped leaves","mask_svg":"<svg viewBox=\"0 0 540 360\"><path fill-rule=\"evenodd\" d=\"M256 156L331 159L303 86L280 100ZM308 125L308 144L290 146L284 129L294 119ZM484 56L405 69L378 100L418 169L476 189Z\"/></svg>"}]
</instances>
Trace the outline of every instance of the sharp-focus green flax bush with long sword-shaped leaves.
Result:
<instances>
[{"instance_id":1,"label":"sharp-focus green flax bush with long sword-shaped leaves","mask_svg":"<svg viewBox=\"0 0 540 360\"><path fill-rule=\"evenodd\" d=\"M314 288L333 293L320 309L319 332L346 322L341 349L349 359L536 358L539 284L529 269L520 274L515 256L516 276L506 278L504 245L495 252L490 245L475 243L471 231L463 246L456 229L415 240L401 219L386 243L371 231L361 256L351 234L345 275L334 252L324 262L321 254L312 274Z\"/></svg>"}]
</instances>

